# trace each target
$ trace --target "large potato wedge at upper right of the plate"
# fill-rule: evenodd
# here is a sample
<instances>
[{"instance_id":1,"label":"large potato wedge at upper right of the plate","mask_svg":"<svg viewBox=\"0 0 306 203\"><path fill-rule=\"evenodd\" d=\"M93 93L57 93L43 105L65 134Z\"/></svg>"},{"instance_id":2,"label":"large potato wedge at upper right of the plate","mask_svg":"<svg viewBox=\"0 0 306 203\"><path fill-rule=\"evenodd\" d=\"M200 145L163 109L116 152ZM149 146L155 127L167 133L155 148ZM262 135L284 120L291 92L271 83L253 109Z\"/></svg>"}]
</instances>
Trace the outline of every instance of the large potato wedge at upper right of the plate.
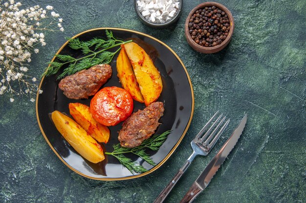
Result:
<instances>
[{"instance_id":1,"label":"large potato wedge at upper right of the plate","mask_svg":"<svg viewBox=\"0 0 306 203\"><path fill-rule=\"evenodd\" d=\"M145 105L148 106L158 99L162 91L160 74L150 56L138 44L130 42L124 44L124 48L130 58Z\"/></svg>"}]
</instances>

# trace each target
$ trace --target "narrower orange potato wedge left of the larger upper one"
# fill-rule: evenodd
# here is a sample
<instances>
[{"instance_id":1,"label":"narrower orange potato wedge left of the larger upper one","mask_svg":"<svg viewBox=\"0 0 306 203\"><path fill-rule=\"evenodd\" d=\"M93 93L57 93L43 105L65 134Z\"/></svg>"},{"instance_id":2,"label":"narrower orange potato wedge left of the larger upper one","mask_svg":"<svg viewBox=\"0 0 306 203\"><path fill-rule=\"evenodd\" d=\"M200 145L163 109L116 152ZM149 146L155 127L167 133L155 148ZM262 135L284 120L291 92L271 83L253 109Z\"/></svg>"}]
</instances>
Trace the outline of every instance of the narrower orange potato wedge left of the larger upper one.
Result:
<instances>
[{"instance_id":1,"label":"narrower orange potato wedge left of the larger upper one","mask_svg":"<svg viewBox=\"0 0 306 203\"><path fill-rule=\"evenodd\" d=\"M124 46L122 46L117 57L116 67L122 87L131 94L131 97L134 100L144 103L145 100L140 92L129 56L126 53Z\"/></svg>"}]
</instances>

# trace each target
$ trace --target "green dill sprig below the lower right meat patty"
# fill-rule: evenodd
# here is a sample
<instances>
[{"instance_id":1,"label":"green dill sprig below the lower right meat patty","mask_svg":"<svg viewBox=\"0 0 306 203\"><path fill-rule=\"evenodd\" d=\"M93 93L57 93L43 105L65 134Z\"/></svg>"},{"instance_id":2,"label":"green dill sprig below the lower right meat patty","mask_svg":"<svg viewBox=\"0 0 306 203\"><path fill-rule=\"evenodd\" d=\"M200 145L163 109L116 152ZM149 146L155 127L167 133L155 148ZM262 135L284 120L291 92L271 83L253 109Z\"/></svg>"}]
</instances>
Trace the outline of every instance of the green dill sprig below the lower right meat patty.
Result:
<instances>
[{"instance_id":1,"label":"green dill sprig below the lower right meat patty","mask_svg":"<svg viewBox=\"0 0 306 203\"><path fill-rule=\"evenodd\" d=\"M171 130L168 130L160 135L153 135L151 138L143 141L140 146L135 148L124 148L121 147L120 144L113 145L112 147L114 148L114 150L112 152L105 152L105 154L116 157L123 166L127 167L131 171L131 173L147 172L148 170L146 168L136 164L135 162L132 162L130 158L124 156L123 154L133 153L142 158L148 164L156 166L156 163L152 160L150 155L147 154L146 148L149 148L153 151L157 151L167 139L167 135L169 135L170 133Z\"/></svg>"}]
</instances>

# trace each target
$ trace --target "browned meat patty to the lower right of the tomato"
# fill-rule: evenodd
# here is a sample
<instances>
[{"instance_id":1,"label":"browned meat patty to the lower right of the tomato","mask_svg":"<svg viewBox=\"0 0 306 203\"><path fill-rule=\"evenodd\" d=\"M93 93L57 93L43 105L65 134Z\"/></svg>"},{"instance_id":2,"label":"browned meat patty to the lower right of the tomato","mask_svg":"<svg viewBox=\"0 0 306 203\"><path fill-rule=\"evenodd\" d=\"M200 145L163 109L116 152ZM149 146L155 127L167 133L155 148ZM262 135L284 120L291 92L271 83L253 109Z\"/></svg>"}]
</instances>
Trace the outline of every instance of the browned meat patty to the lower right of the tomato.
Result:
<instances>
[{"instance_id":1,"label":"browned meat patty to the lower right of the tomato","mask_svg":"<svg viewBox=\"0 0 306 203\"><path fill-rule=\"evenodd\" d=\"M139 146L148 139L158 127L159 118L163 115L164 104L153 102L144 110L133 113L122 125L118 140L120 145L126 148Z\"/></svg>"}]
</instances>

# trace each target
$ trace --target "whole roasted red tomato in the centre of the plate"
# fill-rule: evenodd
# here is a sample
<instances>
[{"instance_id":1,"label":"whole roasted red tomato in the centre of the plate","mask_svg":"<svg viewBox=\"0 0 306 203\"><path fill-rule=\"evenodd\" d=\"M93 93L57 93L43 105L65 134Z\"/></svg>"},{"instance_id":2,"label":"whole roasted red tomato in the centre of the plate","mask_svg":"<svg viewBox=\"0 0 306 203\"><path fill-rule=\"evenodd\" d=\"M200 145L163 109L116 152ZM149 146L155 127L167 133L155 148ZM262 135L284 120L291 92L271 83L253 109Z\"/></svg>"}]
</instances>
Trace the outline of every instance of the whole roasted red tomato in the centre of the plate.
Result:
<instances>
[{"instance_id":1,"label":"whole roasted red tomato in the centre of the plate","mask_svg":"<svg viewBox=\"0 0 306 203\"><path fill-rule=\"evenodd\" d=\"M93 118L105 126L115 126L126 120L133 111L129 92L118 87L106 87L97 92L90 102Z\"/></svg>"}]
</instances>

